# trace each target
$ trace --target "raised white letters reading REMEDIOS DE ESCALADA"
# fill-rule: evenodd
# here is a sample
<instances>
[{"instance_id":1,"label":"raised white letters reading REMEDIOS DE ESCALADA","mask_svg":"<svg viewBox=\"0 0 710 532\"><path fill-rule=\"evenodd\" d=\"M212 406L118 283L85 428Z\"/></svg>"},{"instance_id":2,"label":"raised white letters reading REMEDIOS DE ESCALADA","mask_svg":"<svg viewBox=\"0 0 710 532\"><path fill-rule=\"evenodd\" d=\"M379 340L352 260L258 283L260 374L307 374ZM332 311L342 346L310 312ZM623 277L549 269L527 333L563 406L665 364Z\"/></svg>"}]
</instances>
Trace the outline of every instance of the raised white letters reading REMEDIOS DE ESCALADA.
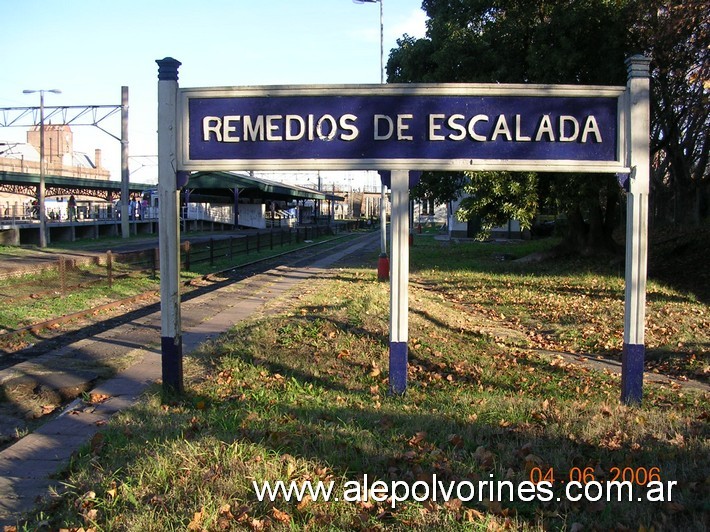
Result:
<instances>
[{"instance_id":1,"label":"raised white letters reading REMEDIOS DE ESCALADA","mask_svg":"<svg viewBox=\"0 0 710 532\"><path fill-rule=\"evenodd\" d=\"M544 114L533 119L523 115L431 113L424 118L427 141L495 142L602 142L602 133L594 115L577 118L571 115L552 117ZM267 114L225 115L202 118L205 142L296 142L315 140L354 141L361 134L362 120L351 113L334 116ZM375 141L413 141L412 130L421 131L414 114L390 116L374 114L368 131Z\"/></svg>"}]
</instances>

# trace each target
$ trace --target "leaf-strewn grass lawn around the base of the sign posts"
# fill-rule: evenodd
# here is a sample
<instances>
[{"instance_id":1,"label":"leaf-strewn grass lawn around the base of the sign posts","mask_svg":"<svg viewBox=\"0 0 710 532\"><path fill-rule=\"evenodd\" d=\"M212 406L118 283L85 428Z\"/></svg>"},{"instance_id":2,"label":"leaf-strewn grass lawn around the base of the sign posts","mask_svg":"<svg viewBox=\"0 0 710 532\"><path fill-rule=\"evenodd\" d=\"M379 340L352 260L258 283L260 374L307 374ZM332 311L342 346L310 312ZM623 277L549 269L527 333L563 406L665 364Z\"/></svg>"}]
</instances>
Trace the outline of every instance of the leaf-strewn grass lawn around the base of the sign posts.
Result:
<instances>
[{"instance_id":1,"label":"leaf-strewn grass lawn around the base of the sign posts","mask_svg":"<svg viewBox=\"0 0 710 532\"><path fill-rule=\"evenodd\" d=\"M642 406L621 406L618 377L550 355L618 356L623 282L601 263L498 260L532 249L417 238L403 397L387 393L389 294L375 256L309 282L189 357L185 396L156 388L119 414L63 475L64 493L20 529L704 530L708 395L647 383ZM707 375L706 306L651 283L648 318L653 349L684 361L673 371ZM658 468L678 483L673 500L393 509L259 502L252 485L332 480L343 493L366 474L517 485L552 469L557 495L570 475L604 480L614 468Z\"/></svg>"}]
</instances>

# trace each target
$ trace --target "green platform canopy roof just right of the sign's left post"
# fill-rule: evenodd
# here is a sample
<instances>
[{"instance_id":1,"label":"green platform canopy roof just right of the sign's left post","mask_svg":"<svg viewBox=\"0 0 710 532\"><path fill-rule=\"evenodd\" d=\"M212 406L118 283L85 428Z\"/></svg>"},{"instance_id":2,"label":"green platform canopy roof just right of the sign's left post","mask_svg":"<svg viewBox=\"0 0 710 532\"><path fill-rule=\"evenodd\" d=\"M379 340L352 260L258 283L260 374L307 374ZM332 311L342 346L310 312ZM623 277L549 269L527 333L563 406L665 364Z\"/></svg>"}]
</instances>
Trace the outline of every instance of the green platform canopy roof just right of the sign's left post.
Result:
<instances>
[{"instance_id":1,"label":"green platform canopy roof just right of the sign's left post","mask_svg":"<svg viewBox=\"0 0 710 532\"><path fill-rule=\"evenodd\" d=\"M287 185L277 181L254 177L237 172L195 172L190 174L187 185L190 201L213 201L232 203L234 190L239 189L240 198L263 200L332 200L344 198L333 196L297 185Z\"/></svg>"}]
</instances>

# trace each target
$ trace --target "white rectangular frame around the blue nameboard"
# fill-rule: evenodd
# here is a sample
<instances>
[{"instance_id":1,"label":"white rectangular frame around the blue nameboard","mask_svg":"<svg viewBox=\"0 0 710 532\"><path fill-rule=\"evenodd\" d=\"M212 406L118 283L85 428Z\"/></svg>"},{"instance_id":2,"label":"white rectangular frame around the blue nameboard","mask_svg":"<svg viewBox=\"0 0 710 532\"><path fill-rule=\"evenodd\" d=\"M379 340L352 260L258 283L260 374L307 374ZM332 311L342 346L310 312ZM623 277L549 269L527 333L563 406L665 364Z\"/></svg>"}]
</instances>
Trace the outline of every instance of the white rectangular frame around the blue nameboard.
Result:
<instances>
[{"instance_id":1,"label":"white rectangular frame around the blue nameboard","mask_svg":"<svg viewBox=\"0 0 710 532\"><path fill-rule=\"evenodd\" d=\"M431 170L629 173L626 165L626 87L481 83L367 85L255 85L178 89L177 164L181 171L201 170ZM189 101L192 98L298 96L465 96L613 98L617 100L617 153L614 161L512 159L212 159L189 156Z\"/></svg>"}]
</instances>

